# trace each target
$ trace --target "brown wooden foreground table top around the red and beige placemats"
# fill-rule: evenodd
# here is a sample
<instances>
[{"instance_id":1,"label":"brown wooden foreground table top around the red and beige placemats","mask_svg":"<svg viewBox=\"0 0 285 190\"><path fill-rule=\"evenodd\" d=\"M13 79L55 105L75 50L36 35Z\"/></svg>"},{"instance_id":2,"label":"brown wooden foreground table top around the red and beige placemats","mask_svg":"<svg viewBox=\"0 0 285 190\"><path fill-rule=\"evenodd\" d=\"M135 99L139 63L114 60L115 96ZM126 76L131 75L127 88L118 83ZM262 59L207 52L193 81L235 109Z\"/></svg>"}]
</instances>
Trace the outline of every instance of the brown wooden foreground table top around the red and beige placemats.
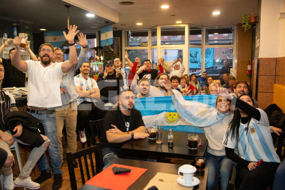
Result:
<instances>
[{"instance_id":1,"label":"brown wooden foreground table top around the red and beige placemats","mask_svg":"<svg viewBox=\"0 0 285 190\"><path fill-rule=\"evenodd\" d=\"M177 174L178 168L181 165L175 165L175 164L168 164L168 163L162 163L162 162L147 162L147 161L141 161L141 160L128 160L123 158L114 158L112 162L109 162L108 165L104 167L106 169L112 164L118 164L118 165L127 165L131 167L140 167L145 168L147 171L134 182L134 184L129 187L129 190L140 190L144 189L149 181L156 176L156 173L162 172L162 173L171 173L171 174ZM207 187L207 178L208 178L208 168L206 167L204 171L194 173L194 176L200 180L200 184L194 187L194 189L206 189ZM177 178L179 176L177 175ZM95 187L89 184L84 184L83 187L80 188L80 190L103 190L104 188L101 187Z\"/></svg>"}]
</instances>

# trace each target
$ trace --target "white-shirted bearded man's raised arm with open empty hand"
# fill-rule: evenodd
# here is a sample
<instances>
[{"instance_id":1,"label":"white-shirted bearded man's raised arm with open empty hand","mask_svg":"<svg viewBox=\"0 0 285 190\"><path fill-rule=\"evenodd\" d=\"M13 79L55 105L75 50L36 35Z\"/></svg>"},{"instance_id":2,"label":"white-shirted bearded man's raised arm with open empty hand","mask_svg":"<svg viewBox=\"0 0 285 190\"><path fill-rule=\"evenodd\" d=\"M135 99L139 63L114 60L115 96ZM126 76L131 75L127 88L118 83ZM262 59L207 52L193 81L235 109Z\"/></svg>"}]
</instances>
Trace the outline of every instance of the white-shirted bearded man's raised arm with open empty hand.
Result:
<instances>
[{"instance_id":1,"label":"white-shirted bearded man's raised arm with open empty hand","mask_svg":"<svg viewBox=\"0 0 285 190\"><path fill-rule=\"evenodd\" d=\"M79 32L79 30L77 30L77 26L76 25L70 25L70 31L68 31L68 34L66 34L63 31L63 35L65 36L65 39L68 41L68 43L74 43L74 36ZM70 70L72 70L72 67L74 67L74 65L76 65L77 63L77 53L76 53L76 49L75 49L75 45L70 45L70 60L67 60L63 63L61 63L61 70L63 71L63 73L67 73Z\"/></svg>"}]
</instances>

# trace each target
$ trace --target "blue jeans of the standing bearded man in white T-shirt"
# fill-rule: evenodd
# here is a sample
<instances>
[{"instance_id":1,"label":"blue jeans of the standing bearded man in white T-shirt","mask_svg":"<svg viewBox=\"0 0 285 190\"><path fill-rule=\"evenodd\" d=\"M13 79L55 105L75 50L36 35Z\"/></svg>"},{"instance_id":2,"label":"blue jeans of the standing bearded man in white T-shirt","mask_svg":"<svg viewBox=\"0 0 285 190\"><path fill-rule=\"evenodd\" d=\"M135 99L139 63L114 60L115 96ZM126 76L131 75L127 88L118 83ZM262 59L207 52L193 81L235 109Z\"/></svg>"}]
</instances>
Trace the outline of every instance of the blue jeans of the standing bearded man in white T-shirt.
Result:
<instances>
[{"instance_id":1,"label":"blue jeans of the standing bearded man in white T-shirt","mask_svg":"<svg viewBox=\"0 0 285 190\"><path fill-rule=\"evenodd\" d=\"M29 112L28 112L29 113ZM52 164L52 174L61 174L61 152L59 151L59 145L56 142L56 114L31 114L32 116L41 120L43 128L45 129L45 136L50 139L50 146L47 148L50 154L50 163ZM40 171L50 170L50 166L47 162L46 155L38 162L38 168Z\"/></svg>"}]
</instances>

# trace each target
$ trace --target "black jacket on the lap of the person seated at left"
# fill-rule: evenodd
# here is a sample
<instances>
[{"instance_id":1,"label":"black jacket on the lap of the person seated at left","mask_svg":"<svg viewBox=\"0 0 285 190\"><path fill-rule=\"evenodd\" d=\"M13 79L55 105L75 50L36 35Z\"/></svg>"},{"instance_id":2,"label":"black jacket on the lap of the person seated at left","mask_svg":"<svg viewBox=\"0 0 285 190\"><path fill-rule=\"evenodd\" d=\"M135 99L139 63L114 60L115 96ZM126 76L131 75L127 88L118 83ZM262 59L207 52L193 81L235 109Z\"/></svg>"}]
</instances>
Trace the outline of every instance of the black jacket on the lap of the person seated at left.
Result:
<instances>
[{"instance_id":1,"label":"black jacket on the lap of the person seated at left","mask_svg":"<svg viewBox=\"0 0 285 190\"><path fill-rule=\"evenodd\" d=\"M17 139L32 147L40 147L43 142L45 142L41 137L41 134L45 134L45 131L43 129L43 124L39 119L27 112L10 112L7 116L7 127L12 135L17 133L17 131L13 130L19 123L23 125L23 132Z\"/></svg>"}]
</instances>

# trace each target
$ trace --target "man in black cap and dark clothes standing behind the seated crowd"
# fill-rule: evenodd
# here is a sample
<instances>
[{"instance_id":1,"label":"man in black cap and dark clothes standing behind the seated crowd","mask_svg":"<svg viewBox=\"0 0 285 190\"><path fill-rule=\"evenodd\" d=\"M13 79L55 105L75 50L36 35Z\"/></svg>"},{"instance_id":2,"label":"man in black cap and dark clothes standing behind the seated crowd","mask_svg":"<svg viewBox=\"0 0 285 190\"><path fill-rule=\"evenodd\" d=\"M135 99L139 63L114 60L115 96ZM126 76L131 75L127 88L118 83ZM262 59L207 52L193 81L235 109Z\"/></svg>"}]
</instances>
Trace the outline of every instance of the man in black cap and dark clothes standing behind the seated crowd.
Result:
<instances>
[{"instance_id":1,"label":"man in black cap and dark clothes standing behind the seated crowd","mask_svg":"<svg viewBox=\"0 0 285 190\"><path fill-rule=\"evenodd\" d=\"M101 101L103 101L103 103L116 104L118 101L117 94L120 91L120 87L124 85L120 70L118 68L114 70L114 67L113 61L107 60L105 63L105 71L99 74L97 79Z\"/></svg>"}]
</instances>

